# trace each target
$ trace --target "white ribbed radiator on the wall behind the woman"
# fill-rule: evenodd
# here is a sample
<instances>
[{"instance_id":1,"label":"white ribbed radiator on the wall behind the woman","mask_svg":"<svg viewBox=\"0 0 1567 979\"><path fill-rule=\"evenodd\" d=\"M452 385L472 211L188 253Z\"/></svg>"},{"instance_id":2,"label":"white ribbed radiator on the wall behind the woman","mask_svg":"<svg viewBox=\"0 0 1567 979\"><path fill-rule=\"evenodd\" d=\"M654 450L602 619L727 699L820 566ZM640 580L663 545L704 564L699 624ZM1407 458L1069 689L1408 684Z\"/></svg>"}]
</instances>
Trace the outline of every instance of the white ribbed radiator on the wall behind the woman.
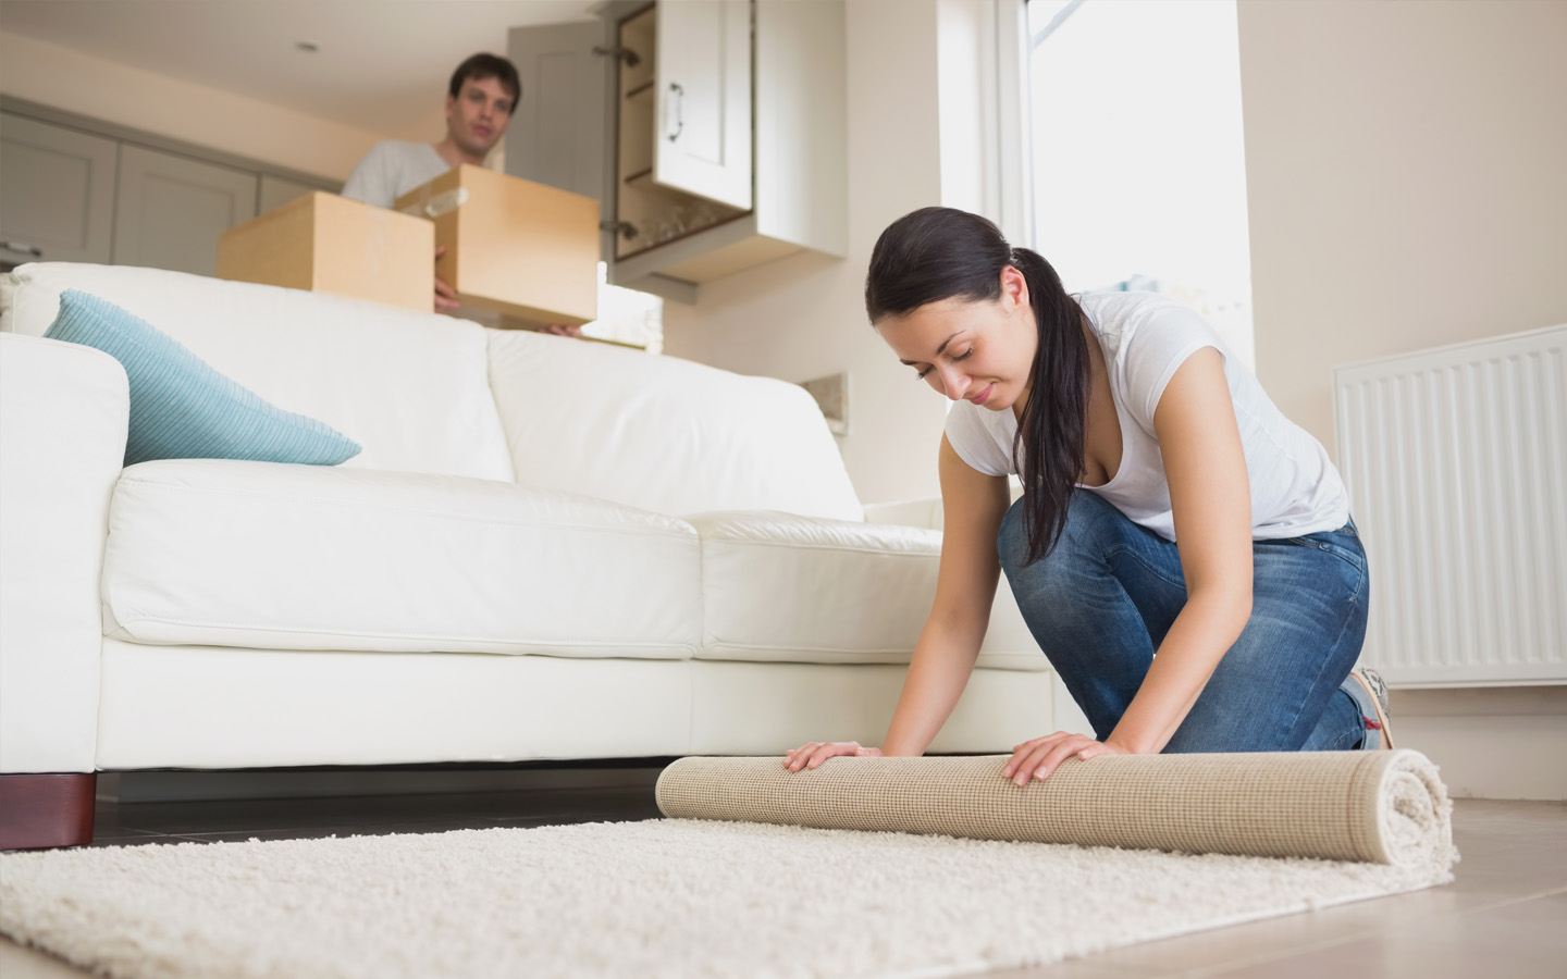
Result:
<instances>
[{"instance_id":1,"label":"white ribbed radiator on the wall behind the woman","mask_svg":"<svg viewBox=\"0 0 1567 979\"><path fill-rule=\"evenodd\" d=\"M1334 371L1371 564L1362 661L1398 686L1567 683L1567 326Z\"/></svg>"}]
</instances>

